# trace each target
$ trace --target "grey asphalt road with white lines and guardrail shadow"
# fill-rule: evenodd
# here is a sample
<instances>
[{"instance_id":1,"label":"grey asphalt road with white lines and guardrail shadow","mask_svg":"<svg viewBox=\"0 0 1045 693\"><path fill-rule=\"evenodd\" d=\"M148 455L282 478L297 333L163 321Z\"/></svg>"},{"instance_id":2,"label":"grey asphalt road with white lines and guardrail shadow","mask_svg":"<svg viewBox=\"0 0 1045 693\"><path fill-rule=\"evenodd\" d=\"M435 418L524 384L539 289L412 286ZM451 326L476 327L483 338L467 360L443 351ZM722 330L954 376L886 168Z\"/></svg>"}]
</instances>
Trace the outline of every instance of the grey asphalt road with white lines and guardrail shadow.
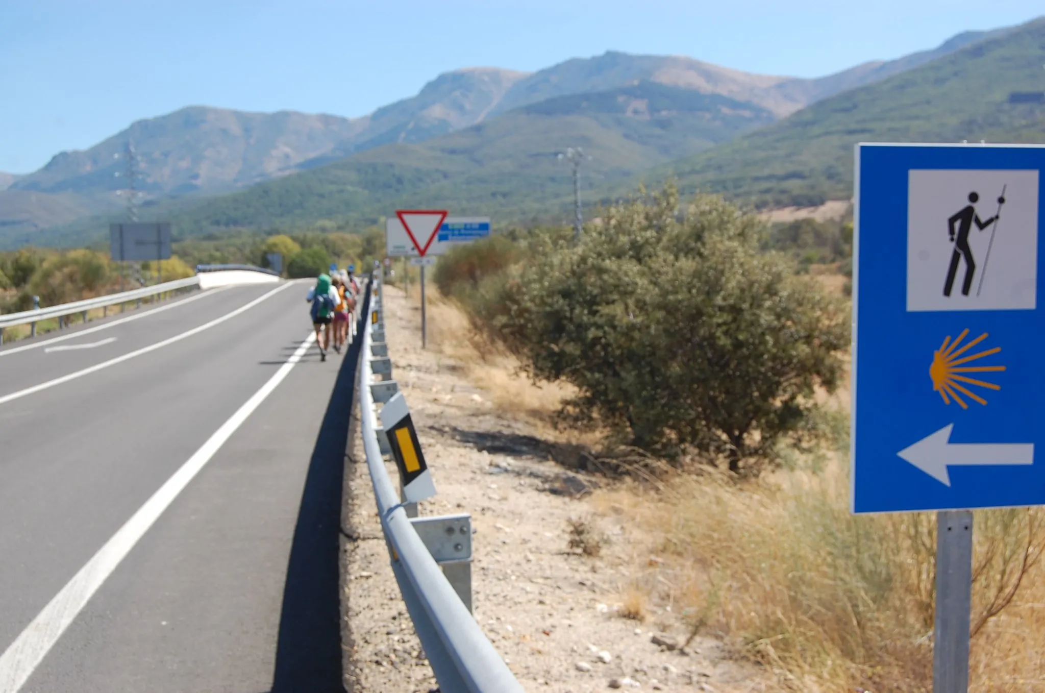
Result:
<instances>
[{"instance_id":1,"label":"grey asphalt road with white lines and guardrail shadow","mask_svg":"<svg viewBox=\"0 0 1045 693\"><path fill-rule=\"evenodd\" d=\"M356 349L320 363L310 346L56 640L51 627L49 649L47 629L29 627L286 370L310 330L306 290L212 290L52 345L0 348L0 693L342 690L338 552ZM59 345L92 346L48 350ZM46 653L5 689L15 643Z\"/></svg>"}]
</instances>

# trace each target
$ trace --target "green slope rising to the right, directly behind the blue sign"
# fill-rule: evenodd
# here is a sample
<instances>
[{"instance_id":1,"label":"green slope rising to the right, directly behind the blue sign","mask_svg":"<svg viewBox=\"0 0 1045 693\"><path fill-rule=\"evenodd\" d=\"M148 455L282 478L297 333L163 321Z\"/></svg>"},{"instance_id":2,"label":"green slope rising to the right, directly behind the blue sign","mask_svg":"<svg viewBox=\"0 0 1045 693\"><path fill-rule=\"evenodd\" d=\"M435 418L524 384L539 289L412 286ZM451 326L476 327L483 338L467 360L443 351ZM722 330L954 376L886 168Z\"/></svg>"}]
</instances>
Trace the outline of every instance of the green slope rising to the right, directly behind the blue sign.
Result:
<instances>
[{"instance_id":1,"label":"green slope rising to the right, directly behind the blue sign","mask_svg":"<svg viewBox=\"0 0 1045 693\"><path fill-rule=\"evenodd\" d=\"M849 199L857 142L1045 142L1043 65L1039 19L642 178L675 176L686 192L721 192L762 207ZM601 192L612 198L633 184Z\"/></svg>"}]
</instances>

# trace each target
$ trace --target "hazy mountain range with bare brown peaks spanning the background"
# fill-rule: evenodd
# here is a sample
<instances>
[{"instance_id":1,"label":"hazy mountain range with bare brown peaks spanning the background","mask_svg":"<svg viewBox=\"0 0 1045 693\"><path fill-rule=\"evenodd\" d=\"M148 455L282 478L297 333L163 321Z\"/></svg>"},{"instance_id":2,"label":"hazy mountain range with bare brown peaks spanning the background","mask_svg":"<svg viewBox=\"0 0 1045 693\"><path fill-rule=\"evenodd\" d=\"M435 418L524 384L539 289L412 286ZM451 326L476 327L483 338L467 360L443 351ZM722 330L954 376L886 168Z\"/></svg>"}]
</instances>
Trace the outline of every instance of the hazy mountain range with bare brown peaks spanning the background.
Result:
<instances>
[{"instance_id":1,"label":"hazy mountain range with bare brown peaks spanning the background","mask_svg":"<svg viewBox=\"0 0 1045 693\"><path fill-rule=\"evenodd\" d=\"M1013 51L1029 50L1040 71L1041 56L1030 50L1035 26L1015 30L1026 38ZM534 73L448 72L416 96L356 119L189 107L137 121L90 149L59 154L32 174L0 175L0 247L100 235L122 213L116 191L125 187L127 142L136 151L142 212L172 218L181 235L320 218L372 223L393 205L554 217L570 190L568 167L557 155L575 145L591 155L583 164L585 187L602 199L640 178L667 176L744 197L751 186L741 190L738 180L749 183L752 171L770 164L786 168L788 157L805 152L769 143L798 141L832 114L842 125L864 113L870 120L889 117L889 103L907 98L902 93L931 91L939 82L939 74L935 82L919 76L926 69L955 60L963 65L971 48L1007 45L1012 33L969 31L933 50L817 79L609 51ZM995 52L983 56L991 62ZM908 82L889 86L903 78ZM1009 80L995 82L1000 93ZM831 106L837 99L850 99L844 102L859 114ZM788 171L781 175L787 180ZM843 188L785 185L759 200L791 204L803 195L847 195Z\"/></svg>"}]
</instances>

